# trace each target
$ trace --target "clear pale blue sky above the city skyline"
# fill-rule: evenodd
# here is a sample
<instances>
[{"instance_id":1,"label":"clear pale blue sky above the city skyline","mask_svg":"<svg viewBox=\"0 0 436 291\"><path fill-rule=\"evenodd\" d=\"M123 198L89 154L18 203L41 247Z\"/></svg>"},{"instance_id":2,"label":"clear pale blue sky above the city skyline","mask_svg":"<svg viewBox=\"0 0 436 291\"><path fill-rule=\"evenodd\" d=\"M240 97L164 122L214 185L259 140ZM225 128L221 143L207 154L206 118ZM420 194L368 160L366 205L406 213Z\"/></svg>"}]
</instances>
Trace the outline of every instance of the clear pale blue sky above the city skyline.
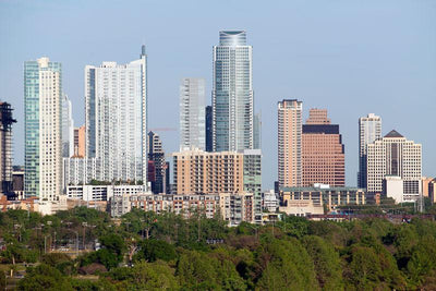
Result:
<instances>
[{"instance_id":1,"label":"clear pale blue sky above the city skyline","mask_svg":"<svg viewBox=\"0 0 436 291\"><path fill-rule=\"evenodd\" d=\"M326 108L346 145L347 184L356 184L360 117L376 113L423 145L423 174L436 177L436 1L0 0L0 100L11 102L14 163L24 163L23 63L62 62L75 125L84 123L84 68L148 54L149 128L179 149L179 85L205 77L210 104L219 31L244 29L253 46L255 111L262 111L263 187L277 180L277 102Z\"/></svg>"}]
</instances>

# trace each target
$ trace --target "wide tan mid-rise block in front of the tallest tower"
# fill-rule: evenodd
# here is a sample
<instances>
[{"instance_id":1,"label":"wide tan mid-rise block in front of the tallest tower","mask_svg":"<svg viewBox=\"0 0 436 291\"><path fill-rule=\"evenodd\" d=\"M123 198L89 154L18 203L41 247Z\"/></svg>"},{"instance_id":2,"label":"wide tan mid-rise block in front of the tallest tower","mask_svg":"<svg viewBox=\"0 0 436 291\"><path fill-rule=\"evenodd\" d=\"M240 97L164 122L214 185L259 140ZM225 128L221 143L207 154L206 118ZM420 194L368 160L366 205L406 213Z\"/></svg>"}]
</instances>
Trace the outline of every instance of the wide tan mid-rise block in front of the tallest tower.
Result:
<instances>
[{"instance_id":1,"label":"wide tan mid-rise block in front of the tallest tower","mask_svg":"<svg viewBox=\"0 0 436 291\"><path fill-rule=\"evenodd\" d=\"M199 149L174 153L173 190L177 194L242 193L243 170L242 153Z\"/></svg>"}]
</instances>

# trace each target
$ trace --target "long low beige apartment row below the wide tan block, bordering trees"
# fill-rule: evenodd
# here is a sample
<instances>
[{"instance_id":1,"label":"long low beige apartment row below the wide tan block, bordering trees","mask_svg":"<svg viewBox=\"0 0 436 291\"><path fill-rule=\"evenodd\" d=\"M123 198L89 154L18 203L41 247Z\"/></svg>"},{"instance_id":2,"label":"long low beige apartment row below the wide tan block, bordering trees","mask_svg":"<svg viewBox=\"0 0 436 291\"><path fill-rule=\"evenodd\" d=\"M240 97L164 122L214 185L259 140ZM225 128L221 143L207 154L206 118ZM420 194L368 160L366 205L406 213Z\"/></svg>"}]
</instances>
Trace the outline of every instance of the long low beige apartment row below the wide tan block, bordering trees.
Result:
<instances>
[{"instance_id":1,"label":"long low beige apartment row below the wide tan block, bordering trees","mask_svg":"<svg viewBox=\"0 0 436 291\"><path fill-rule=\"evenodd\" d=\"M114 195L110 199L110 214L120 217L132 208L157 214L172 211L190 217L202 211L207 218L221 215L230 227L242 221L253 222L253 195L240 194L134 194Z\"/></svg>"}]
</instances>

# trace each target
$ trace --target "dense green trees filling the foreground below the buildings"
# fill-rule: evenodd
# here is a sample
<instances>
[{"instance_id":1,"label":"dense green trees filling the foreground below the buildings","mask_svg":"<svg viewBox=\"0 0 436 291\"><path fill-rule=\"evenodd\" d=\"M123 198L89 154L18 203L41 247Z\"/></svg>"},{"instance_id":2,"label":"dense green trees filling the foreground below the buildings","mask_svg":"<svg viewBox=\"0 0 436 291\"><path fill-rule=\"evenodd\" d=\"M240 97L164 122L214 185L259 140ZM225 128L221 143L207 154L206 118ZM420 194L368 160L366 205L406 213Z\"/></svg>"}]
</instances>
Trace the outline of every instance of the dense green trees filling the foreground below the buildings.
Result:
<instances>
[{"instance_id":1,"label":"dense green trees filling the foreground below the buildings","mask_svg":"<svg viewBox=\"0 0 436 291\"><path fill-rule=\"evenodd\" d=\"M137 209L112 221L78 207L44 217L2 213L0 238L2 266L27 265L19 290L436 290L429 219L284 217L228 228L219 218ZM99 250L82 251L96 242ZM52 252L77 246L77 257Z\"/></svg>"}]
</instances>

